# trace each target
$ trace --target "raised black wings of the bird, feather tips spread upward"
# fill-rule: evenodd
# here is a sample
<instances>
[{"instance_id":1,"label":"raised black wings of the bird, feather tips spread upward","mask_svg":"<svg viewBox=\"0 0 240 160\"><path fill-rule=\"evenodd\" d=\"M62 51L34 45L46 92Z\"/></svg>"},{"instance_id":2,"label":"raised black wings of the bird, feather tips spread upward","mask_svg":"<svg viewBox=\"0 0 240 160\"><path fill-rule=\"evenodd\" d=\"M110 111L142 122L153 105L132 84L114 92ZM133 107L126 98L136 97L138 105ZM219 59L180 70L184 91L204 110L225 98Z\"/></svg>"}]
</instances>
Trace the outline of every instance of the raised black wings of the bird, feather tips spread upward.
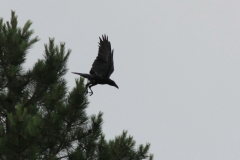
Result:
<instances>
[{"instance_id":1,"label":"raised black wings of the bird, feather tips spread upward","mask_svg":"<svg viewBox=\"0 0 240 160\"><path fill-rule=\"evenodd\" d=\"M106 35L99 39L98 56L92 64L90 74L109 78L114 71L113 50L111 50L111 43Z\"/></svg>"}]
</instances>

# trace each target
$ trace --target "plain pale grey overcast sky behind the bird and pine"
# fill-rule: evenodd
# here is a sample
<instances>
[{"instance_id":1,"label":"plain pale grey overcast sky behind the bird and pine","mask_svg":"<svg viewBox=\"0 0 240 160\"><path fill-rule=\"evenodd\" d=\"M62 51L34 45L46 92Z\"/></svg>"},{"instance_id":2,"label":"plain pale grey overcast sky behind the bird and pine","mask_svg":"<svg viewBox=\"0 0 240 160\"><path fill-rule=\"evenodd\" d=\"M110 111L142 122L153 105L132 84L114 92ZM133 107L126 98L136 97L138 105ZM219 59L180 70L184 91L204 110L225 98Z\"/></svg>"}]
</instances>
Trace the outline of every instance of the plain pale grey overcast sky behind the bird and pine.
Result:
<instances>
[{"instance_id":1,"label":"plain pale grey overcast sky behind the bird and pine","mask_svg":"<svg viewBox=\"0 0 240 160\"><path fill-rule=\"evenodd\" d=\"M109 36L120 89L93 87L87 109L104 112L107 139L128 130L155 160L240 159L239 0L1 0L4 21L11 10L41 39L27 68L49 37L72 50L69 89L70 72L88 73L98 37Z\"/></svg>"}]
</instances>

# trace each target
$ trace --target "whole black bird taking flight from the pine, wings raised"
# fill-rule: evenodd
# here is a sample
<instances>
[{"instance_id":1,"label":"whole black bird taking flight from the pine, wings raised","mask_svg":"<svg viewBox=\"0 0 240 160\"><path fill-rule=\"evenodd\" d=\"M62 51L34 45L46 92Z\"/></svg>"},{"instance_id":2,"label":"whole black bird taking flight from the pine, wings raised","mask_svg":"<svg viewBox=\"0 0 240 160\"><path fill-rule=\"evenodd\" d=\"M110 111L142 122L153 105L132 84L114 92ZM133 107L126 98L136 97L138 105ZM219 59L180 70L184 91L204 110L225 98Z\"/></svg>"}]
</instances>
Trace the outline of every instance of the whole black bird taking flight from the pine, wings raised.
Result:
<instances>
[{"instance_id":1,"label":"whole black bird taking flight from the pine, wings raised","mask_svg":"<svg viewBox=\"0 0 240 160\"><path fill-rule=\"evenodd\" d=\"M101 37L99 39L98 56L92 64L90 74L72 72L89 80L86 84L86 93L88 93L89 88L91 90L90 96L93 94L91 87L97 84L108 84L118 88L117 84L109 78L114 71L111 43L106 35L102 35L102 39Z\"/></svg>"}]
</instances>

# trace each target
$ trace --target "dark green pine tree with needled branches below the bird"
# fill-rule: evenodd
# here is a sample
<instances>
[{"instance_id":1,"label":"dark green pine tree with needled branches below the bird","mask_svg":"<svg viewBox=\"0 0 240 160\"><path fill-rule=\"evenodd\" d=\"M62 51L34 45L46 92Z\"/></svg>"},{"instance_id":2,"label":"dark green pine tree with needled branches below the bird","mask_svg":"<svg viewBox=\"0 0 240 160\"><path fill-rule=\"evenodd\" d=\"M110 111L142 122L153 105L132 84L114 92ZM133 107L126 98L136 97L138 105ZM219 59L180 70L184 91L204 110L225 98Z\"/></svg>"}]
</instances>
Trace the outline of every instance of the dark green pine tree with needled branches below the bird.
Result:
<instances>
[{"instance_id":1,"label":"dark green pine tree with needled branches below the bird","mask_svg":"<svg viewBox=\"0 0 240 160\"><path fill-rule=\"evenodd\" d=\"M89 101L82 78L68 92L64 75L70 50L49 39L43 59L25 70L31 38L31 21L17 26L0 19L0 160L140 160L153 159L150 144L135 149L124 131L107 141L102 116L88 116Z\"/></svg>"}]
</instances>

